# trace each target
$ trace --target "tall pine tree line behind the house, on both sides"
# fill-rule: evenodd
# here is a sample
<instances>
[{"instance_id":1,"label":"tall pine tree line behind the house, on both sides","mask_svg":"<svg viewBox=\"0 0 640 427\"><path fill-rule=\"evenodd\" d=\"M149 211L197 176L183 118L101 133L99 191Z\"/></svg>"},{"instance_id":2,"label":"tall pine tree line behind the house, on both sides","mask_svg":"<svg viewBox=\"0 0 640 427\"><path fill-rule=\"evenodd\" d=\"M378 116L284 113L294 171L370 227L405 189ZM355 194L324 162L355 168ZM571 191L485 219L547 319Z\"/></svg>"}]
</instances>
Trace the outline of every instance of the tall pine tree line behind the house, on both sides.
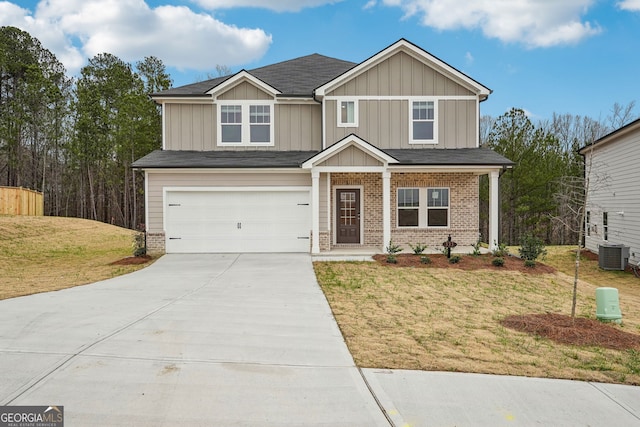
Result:
<instances>
[{"instance_id":1,"label":"tall pine tree line behind the house, on both sides","mask_svg":"<svg viewBox=\"0 0 640 427\"><path fill-rule=\"evenodd\" d=\"M137 228L144 222L144 177L130 165L161 148L161 111L148 95L171 85L153 56L132 65L102 53L69 78L36 38L0 27L0 186L42 191L46 215ZM583 176L578 148L629 123L634 107L614 104L605 119L553 114L534 123L516 108L481 118L482 146L516 163L500 177L502 242L519 244L526 235L576 242L567 225L575 213L558 196L561 183ZM480 198L486 240L486 177Z\"/></svg>"}]
</instances>

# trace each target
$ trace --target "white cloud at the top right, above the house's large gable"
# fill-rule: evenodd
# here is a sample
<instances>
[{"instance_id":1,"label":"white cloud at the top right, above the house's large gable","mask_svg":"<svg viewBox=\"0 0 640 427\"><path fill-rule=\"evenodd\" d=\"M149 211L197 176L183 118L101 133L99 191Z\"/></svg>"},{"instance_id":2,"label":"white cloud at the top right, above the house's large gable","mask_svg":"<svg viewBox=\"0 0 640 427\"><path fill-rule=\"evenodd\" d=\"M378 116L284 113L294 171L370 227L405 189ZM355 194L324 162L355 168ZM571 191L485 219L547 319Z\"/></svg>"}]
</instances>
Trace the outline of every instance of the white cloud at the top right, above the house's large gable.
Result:
<instances>
[{"instance_id":1,"label":"white cloud at the top right, above the house's large gable","mask_svg":"<svg viewBox=\"0 0 640 427\"><path fill-rule=\"evenodd\" d=\"M626 0L628 2L639 0ZM528 47L573 44L601 32L582 15L594 0L383 0L405 17L438 30L480 29L485 36Z\"/></svg>"}]
</instances>

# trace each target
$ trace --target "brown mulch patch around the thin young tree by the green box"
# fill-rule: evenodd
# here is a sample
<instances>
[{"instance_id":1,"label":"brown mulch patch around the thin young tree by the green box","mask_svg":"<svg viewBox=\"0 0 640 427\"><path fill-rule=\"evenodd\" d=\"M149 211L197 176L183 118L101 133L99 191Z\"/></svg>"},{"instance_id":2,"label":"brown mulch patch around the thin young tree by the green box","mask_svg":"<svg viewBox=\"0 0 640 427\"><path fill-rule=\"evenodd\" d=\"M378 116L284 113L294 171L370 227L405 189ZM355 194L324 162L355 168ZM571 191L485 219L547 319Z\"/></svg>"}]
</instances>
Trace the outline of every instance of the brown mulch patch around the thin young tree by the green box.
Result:
<instances>
[{"instance_id":1,"label":"brown mulch patch around the thin young tree by the green box","mask_svg":"<svg viewBox=\"0 0 640 427\"><path fill-rule=\"evenodd\" d=\"M640 335L624 332L611 323L562 314L508 316L502 325L520 332L549 338L560 344L597 346L613 350L640 350Z\"/></svg>"}]
</instances>

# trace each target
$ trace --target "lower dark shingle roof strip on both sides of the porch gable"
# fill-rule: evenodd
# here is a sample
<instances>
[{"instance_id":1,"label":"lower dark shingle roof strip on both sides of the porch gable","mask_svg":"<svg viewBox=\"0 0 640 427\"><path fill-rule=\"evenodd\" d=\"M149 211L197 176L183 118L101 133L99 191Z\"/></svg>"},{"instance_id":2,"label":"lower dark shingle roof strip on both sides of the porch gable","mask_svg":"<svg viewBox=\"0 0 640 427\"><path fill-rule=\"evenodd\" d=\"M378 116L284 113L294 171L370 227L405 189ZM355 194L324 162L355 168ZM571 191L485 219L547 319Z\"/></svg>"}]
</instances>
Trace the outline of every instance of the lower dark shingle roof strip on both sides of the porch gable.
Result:
<instances>
[{"instance_id":1,"label":"lower dark shingle roof strip on both sides of the porch gable","mask_svg":"<svg viewBox=\"0 0 640 427\"><path fill-rule=\"evenodd\" d=\"M513 162L485 148L383 150L396 166L511 166ZM317 151L168 151L156 150L136 160L136 169L298 168Z\"/></svg>"}]
</instances>

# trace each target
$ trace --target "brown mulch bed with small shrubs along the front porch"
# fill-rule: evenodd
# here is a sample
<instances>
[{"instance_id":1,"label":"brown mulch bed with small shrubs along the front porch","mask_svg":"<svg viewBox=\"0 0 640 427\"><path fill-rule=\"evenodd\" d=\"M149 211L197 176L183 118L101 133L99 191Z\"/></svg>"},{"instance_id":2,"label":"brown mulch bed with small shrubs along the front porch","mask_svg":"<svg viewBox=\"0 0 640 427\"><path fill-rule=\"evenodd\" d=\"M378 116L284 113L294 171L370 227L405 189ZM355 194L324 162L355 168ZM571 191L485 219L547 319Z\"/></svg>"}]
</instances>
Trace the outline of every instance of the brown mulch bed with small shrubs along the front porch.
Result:
<instances>
[{"instance_id":1,"label":"brown mulch bed with small shrubs along the front porch","mask_svg":"<svg viewBox=\"0 0 640 427\"><path fill-rule=\"evenodd\" d=\"M496 267L491 263L494 256L490 254L484 255L460 255L460 262L456 264L451 264L446 255L443 254L429 254L426 255L429 257L431 262L429 264L423 264L420 261L420 255L414 254L398 254L396 258L398 262L396 264L391 264L387 262L386 254L378 254L374 255L373 259L382 265L392 266L392 267L416 267L416 268L457 268L459 270L480 270L480 269L489 269L489 270L511 270L511 271L520 271L522 273L528 274L546 274L553 273L556 271L555 268L542 264L541 262L537 262L535 267L527 267L524 265L524 261L520 258L508 256L504 257L504 265L502 267Z\"/></svg>"}]
</instances>

